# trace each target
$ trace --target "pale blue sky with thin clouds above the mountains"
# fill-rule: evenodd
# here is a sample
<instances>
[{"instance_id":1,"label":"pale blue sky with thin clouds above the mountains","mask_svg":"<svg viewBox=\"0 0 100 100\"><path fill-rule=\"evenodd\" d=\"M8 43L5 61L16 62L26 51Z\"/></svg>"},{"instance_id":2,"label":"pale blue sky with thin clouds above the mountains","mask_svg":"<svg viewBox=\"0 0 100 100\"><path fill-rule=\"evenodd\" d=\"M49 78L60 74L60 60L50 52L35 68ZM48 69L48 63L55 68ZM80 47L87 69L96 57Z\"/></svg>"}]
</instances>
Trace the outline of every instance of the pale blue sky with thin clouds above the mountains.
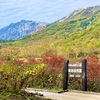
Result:
<instances>
[{"instance_id":1,"label":"pale blue sky with thin clouds above the mountains","mask_svg":"<svg viewBox=\"0 0 100 100\"><path fill-rule=\"evenodd\" d=\"M100 0L0 0L0 28L22 19L54 22L78 8L100 5Z\"/></svg>"}]
</instances>

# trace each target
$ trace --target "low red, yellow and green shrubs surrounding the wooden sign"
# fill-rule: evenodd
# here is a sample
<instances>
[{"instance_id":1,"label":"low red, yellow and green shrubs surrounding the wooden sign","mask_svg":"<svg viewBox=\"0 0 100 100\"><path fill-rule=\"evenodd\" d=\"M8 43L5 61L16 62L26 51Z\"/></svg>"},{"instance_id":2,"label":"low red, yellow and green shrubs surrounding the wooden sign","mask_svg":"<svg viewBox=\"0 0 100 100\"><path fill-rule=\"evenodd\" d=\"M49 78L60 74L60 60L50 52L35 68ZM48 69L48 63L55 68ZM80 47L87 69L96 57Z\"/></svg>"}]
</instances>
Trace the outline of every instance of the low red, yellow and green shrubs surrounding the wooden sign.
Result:
<instances>
[{"instance_id":1,"label":"low red, yellow and green shrubs surrounding the wooden sign","mask_svg":"<svg viewBox=\"0 0 100 100\"><path fill-rule=\"evenodd\" d=\"M100 61L95 56L87 59L89 70L88 91L100 92ZM3 94L7 95L7 97L13 97L12 95L19 95L20 90L27 87L55 90L57 88L58 90L62 88L62 68L64 58L57 54L49 51L41 56L41 59L30 57L27 58L27 60L21 60L19 58L1 60L1 95ZM72 82L72 84L69 85L69 89L81 89L81 79L71 79L70 82ZM1 96L0 98L7 97Z\"/></svg>"}]
</instances>

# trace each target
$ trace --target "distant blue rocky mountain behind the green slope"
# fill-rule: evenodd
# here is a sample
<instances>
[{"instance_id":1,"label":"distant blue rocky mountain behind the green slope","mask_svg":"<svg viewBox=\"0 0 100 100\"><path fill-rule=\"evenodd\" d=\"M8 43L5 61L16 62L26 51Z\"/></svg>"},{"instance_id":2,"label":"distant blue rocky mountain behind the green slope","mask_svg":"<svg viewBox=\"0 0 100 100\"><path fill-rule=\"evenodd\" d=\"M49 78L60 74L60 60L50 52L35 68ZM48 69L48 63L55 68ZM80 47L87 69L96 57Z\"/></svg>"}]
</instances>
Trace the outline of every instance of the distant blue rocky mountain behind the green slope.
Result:
<instances>
[{"instance_id":1,"label":"distant blue rocky mountain behind the green slope","mask_svg":"<svg viewBox=\"0 0 100 100\"><path fill-rule=\"evenodd\" d=\"M46 23L38 23L29 20L21 20L0 29L0 40L16 40L28 35L30 32L43 29Z\"/></svg>"}]
</instances>

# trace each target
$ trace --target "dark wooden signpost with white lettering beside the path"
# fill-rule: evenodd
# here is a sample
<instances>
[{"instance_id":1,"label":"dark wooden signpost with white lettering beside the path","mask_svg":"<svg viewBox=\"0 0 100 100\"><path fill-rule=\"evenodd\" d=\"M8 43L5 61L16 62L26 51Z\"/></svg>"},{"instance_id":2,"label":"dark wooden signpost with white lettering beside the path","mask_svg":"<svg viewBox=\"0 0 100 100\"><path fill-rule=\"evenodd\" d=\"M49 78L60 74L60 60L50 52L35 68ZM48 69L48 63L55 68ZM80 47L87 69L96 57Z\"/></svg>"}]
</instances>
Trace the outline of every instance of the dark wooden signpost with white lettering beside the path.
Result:
<instances>
[{"instance_id":1,"label":"dark wooden signpost with white lettering beside the path","mask_svg":"<svg viewBox=\"0 0 100 100\"><path fill-rule=\"evenodd\" d=\"M87 60L84 59L79 64L70 64L66 60L63 68L63 90L68 89L68 77L82 78L82 91L87 91Z\"/></svg>"}]
</instances>

